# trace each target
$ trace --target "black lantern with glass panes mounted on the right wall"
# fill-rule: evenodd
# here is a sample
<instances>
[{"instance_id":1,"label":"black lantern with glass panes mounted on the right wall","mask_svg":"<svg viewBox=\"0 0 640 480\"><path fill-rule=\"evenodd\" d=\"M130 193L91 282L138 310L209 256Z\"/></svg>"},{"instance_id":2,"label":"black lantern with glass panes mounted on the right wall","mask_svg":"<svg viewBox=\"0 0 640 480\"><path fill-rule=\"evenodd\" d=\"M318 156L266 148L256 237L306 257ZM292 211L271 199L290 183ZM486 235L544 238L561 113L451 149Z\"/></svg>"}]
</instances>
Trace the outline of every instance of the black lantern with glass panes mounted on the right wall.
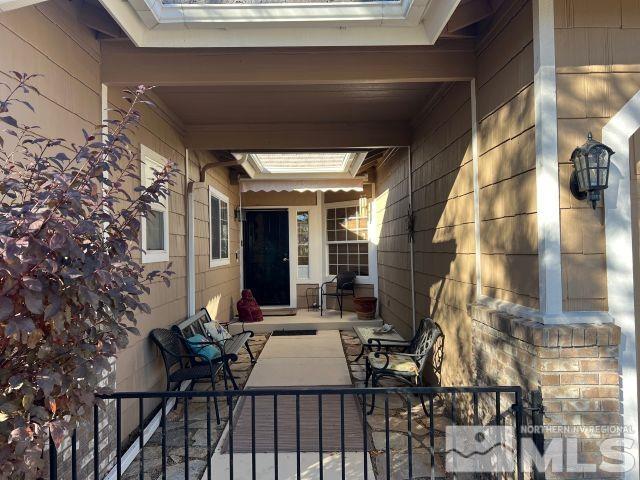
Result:
<instances>
[{"instance_id":1,"label":"black lantern with glass panes mounted on the right wall","mask_svg":"<svg viewBox=\"0 0 640 480\"><path fill-rule=\"evenodd\" d=\"M596 208L600 192L609 184L609 162L615 152L593 139L591 132L584 145L571 154L574 171L571 174L571 193L578 200L589 200Z\"/></svg>"}]
</instances>

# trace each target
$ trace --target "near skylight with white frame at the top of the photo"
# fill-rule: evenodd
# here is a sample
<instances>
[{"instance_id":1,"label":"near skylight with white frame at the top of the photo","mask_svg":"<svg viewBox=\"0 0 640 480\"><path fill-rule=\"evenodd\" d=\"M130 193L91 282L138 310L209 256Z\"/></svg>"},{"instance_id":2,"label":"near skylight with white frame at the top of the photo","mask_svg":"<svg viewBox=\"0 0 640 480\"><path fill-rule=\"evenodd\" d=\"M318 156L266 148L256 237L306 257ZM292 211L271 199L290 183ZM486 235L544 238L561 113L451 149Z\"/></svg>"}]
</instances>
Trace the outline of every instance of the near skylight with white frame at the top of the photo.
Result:
<instances>
[{"instance_id":1,"label":"near skylight with white frame at the top of the photo","mask_svg":"<svg viewBox=\"0 0 640 480\"><path fill-rule=\"evenodd\" d=\"M433 45L460 0L100 2L139 47L290 47Z\"/></svg>"}]
</instances>

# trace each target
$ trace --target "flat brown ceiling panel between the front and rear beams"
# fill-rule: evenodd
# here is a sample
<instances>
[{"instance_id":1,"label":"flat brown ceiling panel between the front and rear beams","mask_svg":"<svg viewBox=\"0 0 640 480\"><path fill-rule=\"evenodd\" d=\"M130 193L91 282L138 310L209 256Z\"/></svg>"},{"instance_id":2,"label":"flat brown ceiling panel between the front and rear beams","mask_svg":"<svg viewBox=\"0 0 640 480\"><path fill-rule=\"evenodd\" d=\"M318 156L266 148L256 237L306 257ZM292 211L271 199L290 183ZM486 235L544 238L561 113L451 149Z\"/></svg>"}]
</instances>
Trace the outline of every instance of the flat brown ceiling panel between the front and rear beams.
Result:
<instances>
[{"instance_id":1,"label":"flat brown ceiling panel between the front and rear beams","mask_svg":"<svg viewBox=\"0 0 640 480\"><path fill-rule=\"evenodd\" d=\"M156 94L185 124L406 122L435 83L160 87Z\"/></svg>"}]
</instances>

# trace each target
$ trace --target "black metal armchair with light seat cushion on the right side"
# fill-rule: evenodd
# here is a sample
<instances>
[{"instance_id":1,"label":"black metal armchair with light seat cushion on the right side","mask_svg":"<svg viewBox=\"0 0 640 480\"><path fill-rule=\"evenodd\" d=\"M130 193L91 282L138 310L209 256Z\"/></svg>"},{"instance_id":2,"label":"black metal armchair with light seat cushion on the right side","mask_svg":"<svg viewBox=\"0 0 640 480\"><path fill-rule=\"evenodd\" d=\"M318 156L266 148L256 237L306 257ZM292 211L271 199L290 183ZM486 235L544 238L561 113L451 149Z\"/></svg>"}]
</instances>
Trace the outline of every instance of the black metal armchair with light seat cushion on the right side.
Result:
<instances>
[{"instance_id":1,"label":"black metal armchair with light seat cushion on the right side","mask_svg":"<svg viewBox=\"0 0 640 480\"><path fill-rule=\"evenodd\" d=\"M410 386L424 386L422 385L422 376L427 360L431 356L433 346L441 336L440 326L430 318L423 318L404 352L382 351L380 345L378 351L367 355L365 387L369 386L369 379L371 379L372 387L379 386L379 380L383 377L391 377ZM375 343L376 339L372 340ZM397 343L400 347L406 345L406 342L403 341ZM375 395L372 395L370 414L373 413L375 402ZM422 408L427 414L424 402L422 402Z\"/></svg>"}]
</instances>

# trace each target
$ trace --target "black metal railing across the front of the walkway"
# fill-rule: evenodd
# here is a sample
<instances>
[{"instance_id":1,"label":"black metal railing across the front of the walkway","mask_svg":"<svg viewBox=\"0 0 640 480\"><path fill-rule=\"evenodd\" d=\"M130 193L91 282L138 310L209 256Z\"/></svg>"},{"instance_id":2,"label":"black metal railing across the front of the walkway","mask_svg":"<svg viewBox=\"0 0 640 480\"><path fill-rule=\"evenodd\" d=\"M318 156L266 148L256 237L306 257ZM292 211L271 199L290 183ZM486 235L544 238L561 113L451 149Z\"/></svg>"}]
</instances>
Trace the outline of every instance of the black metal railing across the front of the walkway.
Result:
<instances>
[{"instance_id":1,"label":"black metal railing across the front of the walkway","mask_svg":"<svg viewBox=\"0 0 640 480\"><path fill-rule=\"evenodd\" d=\"M138 404L138 432L143 432L145 430L145 408L144 403L145 400L149 401L149 399L155 399L159 403L159 407L156 407L155 410L157 415L160 416L160 422L158 429L160 430L161 437L161 474L163 479L167 476L167 468L168 462L167 458L170 452L170 447L167 445L167 405L169 402L173 403L175 399L176 406L182 405L182 435L184 437L184 478L188 480L190 474L190 437L189 437L189 428L190 428L190 420L189 420L189 412L190 409L193 409L193 403L198 402L202 407L202 403L205 405L206 409L206 453L207 453L207 462L205 467L206 478L208 480L218 479L221 480L223 478L233 479L233 478L246 478L246 477L238 477L237 475L234 477L234 457L237 453L234 453L234 435L236 435L235 430L238 428L237 424L239 422L238 418L235 418L236 415L247 415L245 408L245 402L249 403L250 406L250 425L251 425L251 478L252 479L260 479L264 480L263 477L257 475L256 468L256 402L259 398L270 399L273 403L273 410L270 411L270 415L273 416L273 426L270 434L273 435L270 441L273 442L272 450L273 450L273 470L274 477L276 480L278 479L279 474L279 448L278 448L278 415L282 415L282 409L278 409L278 402L283 402L283 399L289 399L289 404L294 405L293 409L295 410L295 432L288 432L289 435L295 435L295 454L296 454L296 478L303 478L302 469L301 469L301 399L303 399L305 404L309 404L310 400L315 397L313 400L314 413L317 414L316 422L312 423L313 425L318 426L317 428L317 446L318 446L318 475L317 478L322 479L324 476L324 466L323 459L326 455L328 455L328 450L323 448L323 425L326 425L327 422L331 423L330 418L325 416L323 423L323 406L327 404L329 401L336 402L339 404L339 436L340 436L340 448L335 452L336 455L339 454L339 464L342 479L345 478L355 478L353 477L353 473L348 473L348 467L346 465L346 456L348 455L347 449L345 448L345 422L348 422L349 418L345 418L345 412L347 415L354 414L353 409L347 411L345 409L345 399L348 397L352 397L357 399L355 402L357 405L357 415L359 416L358 420L362 422L361 428L361 452L358 454L362 454L363 459L363 470L358 473L357 478L362 478L364 480L368 480L372 477L371 472L369 470L368 465L370 464L370 451L375 450L371 440L370 440L370 431L369 424L367 422L368 418L368 408L370 406L370 402L372 400L372 396L376 396L378 412L376 415L382 415L384 418L384 443L385 443L385 458L384 458L384 468L382 472L378 473L377 478L389 479L392 476L391 470L391 442L390 442L390 410L391 408L397 409L398 401L396 400L393 403L393 406L390 406L390 403L393 400L394 396L396 399L400 399L400 405L403 405L405 408L403 409L404 414L402 416L406 416L406 436L407 436L407 444L406 444L406 456L407 456L407 468L408 468L408 478L414 477L414 417L418 415L423 420L428 419L428 438L429 445L427 450L430 455L430 478L434 479L436 477L436 456L443 455L446 452L443 450L436 449L436 433L441 434L441 431L437 431L436 423L438 417L446 417L448 421L450 421L453 425L461 425L461 426L479 426L479 425L495 425L495 426L509 426L513 428L516 440L516 448L515 448L515 458L514 465L515 469L512 474L512 478L522 480L523 476L523 458L522 458L522 446L521 446L521 431L523 425L523 398L522 398L522 389L518 386L513 387L394 387L394 388L295 388L295 389L256 389L256 390L233 390L233 391L172 391L172 392L118 392L109 395L103 395L100 398L107 402L111 402L111 404L115 404L115 466L113 466L113 471L115 473L114 477L117 480L120 480L123 476L123 469L126 466L123 466L123 444L122 444L122 402L134 402L137 400ZM381 401L382 398L382 401ZM213 437L212 432L212 422L215 418L219 416L219 403L225 403L226 400L226 413L227 413L227 423L224 431L222 432L220 438ZM242 408L239 408L242 401ZM339 402L339 403L338 403ZM212 408L212 405L213 408ZM439 412L435 412L434 405L438 404ZM422 405L422 409L418 409L420 412L416 414L414 412L414 407L418 405ZM493 409L493 412L487 412L487 406ZM282 403L281 403L282 407ZM482 408L482 417L485 419L481 420L480 408ZM214 412L212 412L214 410ZM244 412L244 413L243 413ZM152 412L148 412L152 413ZM224 412L223 412L224 413ZM335 413L335 412L334 412ZM289 412L291 414L291 412ZM65 470L64 478L70 478L72 480L77 480L78 478L93 478L99 479L101 475L104 476L104 464L101 466L101 458L100 458L100 442L104 440L102 438L104 435L101 434L99 430L99 424L101 420L104 421L104 418L101 417L101 409L96 405L93 411L93 431L92 431L92 462L89 462L84 459L79 459L80 456L78 453L78 449L76 448L76 433L73 433L73 437L71 438L71 452L70 455L66 453L63 455L56 451L53 443L50 442L49 448L49 467L50 467L50 478L52 480L57 480L59 477L59 469ZM508 417L508 421L505 421ZM486 420L490 419L490 420ZM337 425L337 418L335 420L335 425ZM246 418L245 418L246 423ZM271 427L270 427L271 428ZM177 429L172 429L171 434L175 435ZM281 432L282 433L282 432ZM350 441L353 442L353 432L350 432L351 438ZM442 436L442 435L440 435ZM137 469L139 478L145 478L145 443L149 440L150 435L139 434L135 443L138 444L137 451ZM260 440L258 438L258 440ZM221 477L220 475L214 475L214 465L212 461L212 457L214 455L214 449L220 447L220 442L226 442L226 454L228 455L228 474ZM246 438L245 438L246 441ZM315 441L315 439L314 439ZM84 445L84 447L90 452L88 445ZM174 447L175 448L175 447ZM359 450L359 449L358 449ZM288 450L291 452L291 450ZM309 450L306 450L308 452ZM351 453L353 454L353 449ZM64 452L63 452L64 453ZM112 452L113 453L113 452ZM263 452L264 453L264 452ZM271 453L271 452L269 452ZM293 452L291 452L293 453ZM91 453L90 453L91 454ZM63 459L59 459L61 456ZM84 465L84 468L87 467L87 463L92 465L92 471L81 474L79 467L79 460ZM63 465L63 463L67 463L67 465ZM70 462L70 466L68 463ZM244 465L243 465L244 467ZM246 467L245 467L246 468ZM68 474L67 474L68 472ZM205 473L203 472L203 474ZM308 472L307 472L308 474ZM350 476L351 475L351 476ZM200 475L198 475L198 479ZM308 478L308 476L306 477ZM453 476L455 478L455 475ZM501 476L504 478L504 475Z\"/></svg>"}]
</instances>

